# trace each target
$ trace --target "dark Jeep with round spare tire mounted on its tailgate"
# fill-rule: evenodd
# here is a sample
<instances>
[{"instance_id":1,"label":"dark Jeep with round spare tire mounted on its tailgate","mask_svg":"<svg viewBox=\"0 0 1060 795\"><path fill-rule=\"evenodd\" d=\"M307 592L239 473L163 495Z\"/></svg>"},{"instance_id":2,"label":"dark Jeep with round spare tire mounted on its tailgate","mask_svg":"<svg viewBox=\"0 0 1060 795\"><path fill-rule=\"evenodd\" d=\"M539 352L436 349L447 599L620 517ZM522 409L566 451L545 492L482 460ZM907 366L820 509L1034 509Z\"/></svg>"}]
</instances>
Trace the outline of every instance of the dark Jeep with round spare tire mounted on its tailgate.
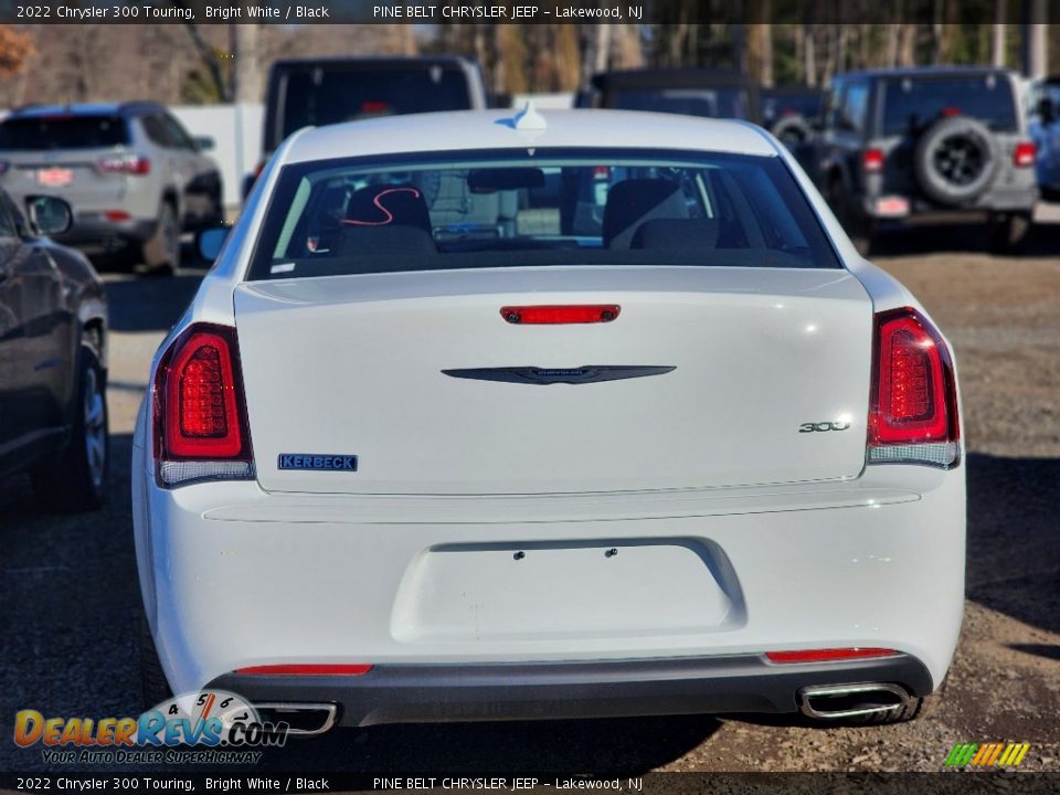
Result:
<instances>
[{"instance_id":1,"label":"dark Jeep with round spare tire mounted on its tailgate","mask_svg":"<svg viewBox=\"0 0 1060 795\"><path fill-rule=\"evenodd\" d=\"M989 67L836 75L820 135L797 151L855 245L913 224L985 221L1018 246L1038 200L1017 77Z\"/></svg>"}]
</instances>

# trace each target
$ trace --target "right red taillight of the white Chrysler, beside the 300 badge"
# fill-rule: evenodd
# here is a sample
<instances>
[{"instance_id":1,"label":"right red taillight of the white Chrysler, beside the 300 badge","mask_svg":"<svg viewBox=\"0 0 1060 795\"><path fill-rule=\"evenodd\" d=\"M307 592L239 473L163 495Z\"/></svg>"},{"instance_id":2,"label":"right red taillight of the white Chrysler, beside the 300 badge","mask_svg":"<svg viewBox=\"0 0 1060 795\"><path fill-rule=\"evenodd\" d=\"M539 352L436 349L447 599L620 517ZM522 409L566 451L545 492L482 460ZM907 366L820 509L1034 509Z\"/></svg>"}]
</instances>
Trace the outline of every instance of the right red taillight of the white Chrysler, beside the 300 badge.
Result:
<instances>
[{"instance_id":1,"label":"right red taillight of the white Chrysler, beside the 300 badge","mask_svg":"<svg viewBox=\"0 0 1060 795\"><path fill-rule=\"evenodd\" d=\"M957 463L953 361L942 336L915 309L876 316L871 400L870 464Z\"/></svg>"}]
</instances>

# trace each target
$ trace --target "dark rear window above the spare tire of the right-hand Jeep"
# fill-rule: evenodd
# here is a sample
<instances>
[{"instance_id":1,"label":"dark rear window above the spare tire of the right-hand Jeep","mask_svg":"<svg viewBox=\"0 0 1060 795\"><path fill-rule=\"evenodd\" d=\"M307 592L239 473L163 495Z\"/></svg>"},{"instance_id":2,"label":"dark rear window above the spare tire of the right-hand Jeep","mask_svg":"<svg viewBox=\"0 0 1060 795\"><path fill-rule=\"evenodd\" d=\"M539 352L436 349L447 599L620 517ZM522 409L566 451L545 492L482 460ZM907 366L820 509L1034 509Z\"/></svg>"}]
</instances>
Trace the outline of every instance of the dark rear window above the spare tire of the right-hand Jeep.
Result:
<instances>
[{"instance_id":1,"label":"dark rear window above the spare tire of the right-hand Jeep","mask_svg":"<svg viewBox=\"0 0 1060 795\"><path fill-rule=\"evenodd\" d=\"M902 77L883 84L883 135L918 131L944 116L968 116L997 132L1016 132L1016 97L1001 75Z\"/></svg>"}]
</instances>

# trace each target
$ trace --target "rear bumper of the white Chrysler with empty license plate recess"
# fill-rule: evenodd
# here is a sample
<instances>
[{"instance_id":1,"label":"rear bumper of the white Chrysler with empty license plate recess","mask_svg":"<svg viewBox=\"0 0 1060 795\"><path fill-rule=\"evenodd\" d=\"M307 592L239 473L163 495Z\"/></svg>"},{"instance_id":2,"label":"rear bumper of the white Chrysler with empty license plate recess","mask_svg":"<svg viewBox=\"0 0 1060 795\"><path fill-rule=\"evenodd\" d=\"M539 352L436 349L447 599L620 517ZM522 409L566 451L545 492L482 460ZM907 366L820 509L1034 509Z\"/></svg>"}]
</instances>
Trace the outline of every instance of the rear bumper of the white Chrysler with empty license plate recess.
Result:
<instances>
[{"instance_id":1,"label":"rear bumper of the white Chrysler with empty license plate recess","mask_svg":"<svg viewBox=\"0 0 1060 795\"><path fill-rule=\"evenodd\" d=\"M592 672L584 703L523 708L512 671L554 670L541 687L575 686L574 671L600 669L569 664L636 671L658 659L691 668L649 681L729 683L687 709L686 686L667 695L645 685L665 706L636 697L622 713L791 710L797 687L841 681L846 666L775 685L774 675L802 669L766 665L763 653L850 646L918 660L928 676L905 683L925 692L945 676L960 633L964 499L963 467L873 466L847 483L692 494L385 498L277 495L253 481L166 490L140 446L134 463L141 592L174 691L212 681L266 701L311 701L326 697L298 688L347 688L327 697L349 708L344 721L386 703L432 703L432 676L455 693L439 696L443 706L474 704L485 686L468 685L469 671L480 669L505 671L501 690L513 691L481 699L496 707L490 717L584 716L623 688ZM338 682L232 679L248 666L312 662L375 668ZM851 680L902 681L863 665Z\"/></svg>"}]
</instances>

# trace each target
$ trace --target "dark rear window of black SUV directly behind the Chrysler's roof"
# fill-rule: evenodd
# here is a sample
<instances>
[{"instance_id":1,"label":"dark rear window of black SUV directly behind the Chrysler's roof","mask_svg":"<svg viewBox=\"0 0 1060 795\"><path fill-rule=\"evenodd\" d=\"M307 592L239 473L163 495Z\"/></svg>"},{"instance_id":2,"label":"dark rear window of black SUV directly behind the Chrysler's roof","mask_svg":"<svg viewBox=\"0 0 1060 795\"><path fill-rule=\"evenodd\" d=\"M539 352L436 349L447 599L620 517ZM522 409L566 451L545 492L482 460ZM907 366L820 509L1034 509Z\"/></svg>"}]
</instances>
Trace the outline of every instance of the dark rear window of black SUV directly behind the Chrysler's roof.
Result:
<instances>
[{"instance_id":1,"label":"dark rear window of black SUV directly behind the Chrysler's roof","mask_svg":"<svg viewBox=\"0 0 1060 795\"><path fill-rule=\"evenodd\" d=\"M424 64L415 68L367 70L317 66L287 72L274 103L278 127L269 149L295 130L396 114L466 110L471 107L463 70Z\"/></svg>"}]
</instances>

